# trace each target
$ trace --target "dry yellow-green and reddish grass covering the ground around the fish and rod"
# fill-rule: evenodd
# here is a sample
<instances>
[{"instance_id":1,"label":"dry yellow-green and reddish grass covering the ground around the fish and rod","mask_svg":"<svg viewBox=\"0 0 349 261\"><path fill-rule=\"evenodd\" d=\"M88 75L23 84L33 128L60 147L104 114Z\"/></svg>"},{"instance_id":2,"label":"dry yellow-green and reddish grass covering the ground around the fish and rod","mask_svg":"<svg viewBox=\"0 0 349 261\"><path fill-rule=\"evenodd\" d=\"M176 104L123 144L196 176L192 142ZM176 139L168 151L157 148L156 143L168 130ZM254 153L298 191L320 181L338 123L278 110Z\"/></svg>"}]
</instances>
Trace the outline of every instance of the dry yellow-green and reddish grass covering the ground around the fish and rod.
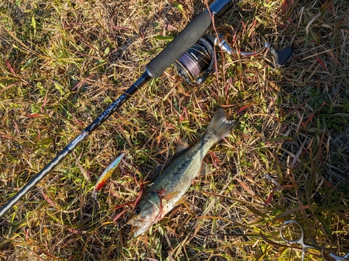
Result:
<instances>
[{"instance_id":1,"label":"dry yellow-green and reddish grass covering the ground around the fish and rod","mask_svg":"<svg viewBox=\"0 0 349 261\"><path fill-rule=\"evenodd\" d=\"M270 67L267 53L223 56L201 86L168 68L1 219L1 260L300 260L299 245L279 237L288 219L306 242L348 253L348 8L341 0L242 1L216 30L242 51L265 40L292 46L287 66ZM2 1L0 204L203 9L205 1ZM125 223L140 184L179 137L195 143L221 106L240 121L207 154L212 173L132 239ZM94 182L121 152L98 206ZM306 260L325 259L311 250Z\"/></svg>"}]
</instances>

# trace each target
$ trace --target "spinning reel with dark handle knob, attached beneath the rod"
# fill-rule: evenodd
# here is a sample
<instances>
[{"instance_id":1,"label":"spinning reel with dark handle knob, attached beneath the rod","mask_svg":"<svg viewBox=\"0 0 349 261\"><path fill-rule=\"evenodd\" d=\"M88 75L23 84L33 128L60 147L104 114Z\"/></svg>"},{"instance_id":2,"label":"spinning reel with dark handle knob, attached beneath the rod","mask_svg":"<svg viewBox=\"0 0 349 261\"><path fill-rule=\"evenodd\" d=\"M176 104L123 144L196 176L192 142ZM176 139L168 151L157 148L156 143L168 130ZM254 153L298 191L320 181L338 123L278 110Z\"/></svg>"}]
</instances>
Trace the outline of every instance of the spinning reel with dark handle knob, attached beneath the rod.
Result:
<instances>
[{"instance_id":1,"label":"spinning reel with dark handle knob, attached beneath the rod","mask_svg":"<svg viewBox=\"0 0 349 261\"><path fill-rule=\"evenodd\" d=\"M218 61L220 58L218 54L214 57L215 46L221 47L223 52L226 52L229 55L233 53L237 54L237 52L228 45L223 34L219 35L218 38L213 35L209 35L207 38L200 38L195 45L174 61L174 66L177 69L179 76L188 81L188 83L195 81L197 84L202 84L207 77L214 72L214 61ZM269 49L276 66L282 66L287 63L293 53L291 47L286 47L279 51L272 45L265 43L264 47L255 52L239 52L239 54L242 56L253 56L259 54L265 49ZM200 74L202 75L200 76Z\"/></svg>"}]
</instances>

